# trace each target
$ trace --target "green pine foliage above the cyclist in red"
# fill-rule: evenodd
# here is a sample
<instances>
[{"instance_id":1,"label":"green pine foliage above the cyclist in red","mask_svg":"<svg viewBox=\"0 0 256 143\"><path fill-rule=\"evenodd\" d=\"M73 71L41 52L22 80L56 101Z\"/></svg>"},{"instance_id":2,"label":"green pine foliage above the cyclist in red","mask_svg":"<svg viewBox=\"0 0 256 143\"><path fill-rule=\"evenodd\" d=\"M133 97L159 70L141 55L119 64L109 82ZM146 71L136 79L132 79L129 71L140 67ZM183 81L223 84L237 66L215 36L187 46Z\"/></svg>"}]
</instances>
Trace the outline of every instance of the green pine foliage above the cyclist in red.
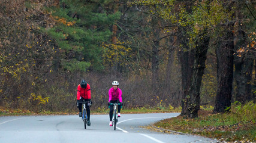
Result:
<instances>
[{"instance_id":1,"label":"green pine foliage above the cyclist in red","mask_svg":"<svg viewBox=\"0 0 256 143\"><path fill-rule=\"evenodd\" d=\"M55 26L44 29L61 50L61 63L68 71L103 69L101 43L109 41L109 27L121 13L110 14L105 7L110 1L65 0L61 7L48 8ZM100 5L99 5L100 4ZM102 11L100 11L102 9Z\"/></svg>"}]
</instances>

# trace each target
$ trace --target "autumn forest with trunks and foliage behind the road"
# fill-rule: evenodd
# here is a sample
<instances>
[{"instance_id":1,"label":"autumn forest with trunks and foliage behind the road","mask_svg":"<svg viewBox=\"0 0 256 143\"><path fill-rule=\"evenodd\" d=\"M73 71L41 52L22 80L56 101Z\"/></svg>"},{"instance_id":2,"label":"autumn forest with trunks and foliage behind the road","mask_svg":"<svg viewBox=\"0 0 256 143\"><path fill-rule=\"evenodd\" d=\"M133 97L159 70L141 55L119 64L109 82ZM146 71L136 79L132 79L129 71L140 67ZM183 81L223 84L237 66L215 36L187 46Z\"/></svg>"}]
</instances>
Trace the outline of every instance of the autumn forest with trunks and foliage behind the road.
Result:
<instances>
[{"instance_id":1,"label":"autumn forest with trunks and foliage behind the road","mask_svg":"<svg viewBox=\"0 0 256 143\"><path fill-rule=\"evenodd\" d=\"M77 85L107 108L256 102L256 1L1 0L0 106L76 111Z\"/></svg>"}]
</instances>

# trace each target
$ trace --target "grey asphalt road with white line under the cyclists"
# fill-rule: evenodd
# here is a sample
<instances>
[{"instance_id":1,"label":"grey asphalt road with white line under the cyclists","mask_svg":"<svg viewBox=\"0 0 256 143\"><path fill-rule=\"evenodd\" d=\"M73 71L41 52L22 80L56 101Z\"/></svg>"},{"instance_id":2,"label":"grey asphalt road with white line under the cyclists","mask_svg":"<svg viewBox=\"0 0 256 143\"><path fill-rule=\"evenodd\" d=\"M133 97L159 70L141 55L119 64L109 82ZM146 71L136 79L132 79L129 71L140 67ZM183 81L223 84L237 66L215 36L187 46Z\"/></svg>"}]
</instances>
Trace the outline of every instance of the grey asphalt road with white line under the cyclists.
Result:
<instances>
[{"instance_id":1,"label":"grey asphalt road with white line under the cyclists","mask_svg":"<svg viewBox=\"0 0 256 143\"><path fill-rule=\"evenodd\" d=\"M218 142L193 135L153 132L143 126L179 113L122 114L117 129L109 126L109 115L91 115L84 128L78 115L0 117L0 142Z\"/></svg>"}]
</instances>

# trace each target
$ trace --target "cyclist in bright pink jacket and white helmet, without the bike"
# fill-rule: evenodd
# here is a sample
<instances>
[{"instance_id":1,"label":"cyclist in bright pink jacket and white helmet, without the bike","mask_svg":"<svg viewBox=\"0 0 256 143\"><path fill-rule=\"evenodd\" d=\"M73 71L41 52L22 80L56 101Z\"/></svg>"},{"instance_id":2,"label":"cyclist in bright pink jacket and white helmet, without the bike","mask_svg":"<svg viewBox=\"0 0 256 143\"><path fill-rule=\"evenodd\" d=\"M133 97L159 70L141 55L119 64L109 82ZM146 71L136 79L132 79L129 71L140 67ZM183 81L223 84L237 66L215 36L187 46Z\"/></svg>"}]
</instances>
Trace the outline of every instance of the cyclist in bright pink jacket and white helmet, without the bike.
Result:
<instances>
[{"instance_id":1,"label":"cyclist in bright pink jacket and white helmet, without the bike","mask_svg":"<svg viewBox=\"0 0 256 143\"><path fill-rule=\"evenodd\" d=\"M122 102L122 91L120 88L118 88L119 83L118 81L113 81L112 82L112 88L109 89L109 103L107 105L109 105L109 118L110 118L110 122L109 122L109 126L112 126L112 117L113 117L113 107L114 105L110 105L110 103L116 103L116 102L120 102L121 106L123 105ZM120 111L121 111L121 106L118 106L118 117L121 117Z\"/></svg>"}]
</instances>

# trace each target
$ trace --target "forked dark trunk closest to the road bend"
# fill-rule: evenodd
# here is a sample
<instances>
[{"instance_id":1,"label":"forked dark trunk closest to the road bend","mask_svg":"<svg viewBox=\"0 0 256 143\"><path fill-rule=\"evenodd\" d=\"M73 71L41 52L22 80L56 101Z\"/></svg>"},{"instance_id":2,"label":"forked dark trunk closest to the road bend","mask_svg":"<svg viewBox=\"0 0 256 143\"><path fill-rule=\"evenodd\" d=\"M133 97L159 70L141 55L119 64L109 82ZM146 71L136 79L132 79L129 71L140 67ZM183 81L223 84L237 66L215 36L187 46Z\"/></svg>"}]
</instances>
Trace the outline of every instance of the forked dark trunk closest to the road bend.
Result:
<instances>
[{"instance_id":1,"label":"forked dark trunk closest to the road bend","mask_svg":"<svg viewBox=\"0 0 256 143\"><path fill-rule=\"evenodd\" d=\"M191 3L192 4L192 3ZM188 7L189 3L186 4L187 11L191 11L191 7ZM183 30L184 31L184 30ZM189 54L194 55L194 58L188 58L188 55L184 60L180 60L182 67L182 112L181 115L189 118L198 117L198 110L200 109L200 86L201 79L203 77L205 69L205 61L207 50L210 42L210 38L206 36L206 31L201 31L201 35L198 35L196 46L193 51ZM181 32L183 33L183 32ZM205 35L206 34L206 35ZM186 38L183 43L188 43ZM185 42L186 41L186 42ZM186 44L182 44L186 45ZM190 63L192 60L193 63ZM183 62L186 63L183 63ZM186 65L187 64L187 65ZM192 66L192 69L191 68ZM186 66L186 67L185 67ZM192 72L191 72L192 70ZM187 72L187 73L184 73Z\"/></svg>"}]
</instances>

